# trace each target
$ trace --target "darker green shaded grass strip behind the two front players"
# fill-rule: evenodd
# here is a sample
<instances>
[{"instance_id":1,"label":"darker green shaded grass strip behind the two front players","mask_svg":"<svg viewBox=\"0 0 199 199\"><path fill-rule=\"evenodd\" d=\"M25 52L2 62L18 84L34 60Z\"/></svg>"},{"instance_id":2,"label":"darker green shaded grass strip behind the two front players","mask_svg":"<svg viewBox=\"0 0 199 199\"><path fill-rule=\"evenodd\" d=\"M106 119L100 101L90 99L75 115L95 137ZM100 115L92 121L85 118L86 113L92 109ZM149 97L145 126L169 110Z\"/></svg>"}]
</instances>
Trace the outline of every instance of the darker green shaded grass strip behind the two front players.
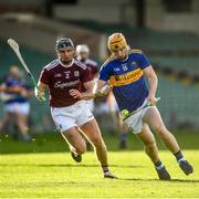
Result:
<instances>
[{"instance_id":1,"label":"darker green shaded grass strip behind the two front players","mask_svg":"<svg viewBox=\"0 0 199 199\"><path fill-rule=\"evenodd\" d=\"M199 149L198 132L175 132L175 136L184 149ZM115 134L103 135L108 150L118 150L118 136ZM165 149L165 146L156 137L158 148ZM132 134L128 134L127 145L129 150L143 150L143 144ZM22 143L20 139L14 142L10 135L0 135L0 154L17 153L59 153L67 150L64 139L59 133L46 133L34 135L31 143Z\"/></svg>"}]
</instances>

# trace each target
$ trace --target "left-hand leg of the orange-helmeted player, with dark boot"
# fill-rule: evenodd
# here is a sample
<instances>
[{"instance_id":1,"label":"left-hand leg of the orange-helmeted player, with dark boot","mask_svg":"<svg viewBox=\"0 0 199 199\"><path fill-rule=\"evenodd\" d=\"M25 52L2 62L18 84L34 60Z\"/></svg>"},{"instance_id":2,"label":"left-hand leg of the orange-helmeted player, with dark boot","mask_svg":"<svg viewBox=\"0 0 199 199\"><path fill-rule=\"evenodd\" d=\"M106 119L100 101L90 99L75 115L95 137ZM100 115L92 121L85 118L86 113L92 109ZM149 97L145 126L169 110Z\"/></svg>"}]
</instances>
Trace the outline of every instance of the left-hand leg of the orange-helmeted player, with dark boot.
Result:
<instances>
[{"instance_id":1,"label":"left-hand leg of the orange-helmeted player, with dark boot","mask_svg":"<svg viewBox=\"0 0 199 199\"><path fill-rule=\"evenodd\" d=\"M147 124L144 124L142 133L136 134L136 136L144 143L145 151L155 165L156 171L161 180L169 180L170 175L166 170L166 167L161 163L158 156L158 148L153 133L148 128Z\"/></svg>"}]
</instances>

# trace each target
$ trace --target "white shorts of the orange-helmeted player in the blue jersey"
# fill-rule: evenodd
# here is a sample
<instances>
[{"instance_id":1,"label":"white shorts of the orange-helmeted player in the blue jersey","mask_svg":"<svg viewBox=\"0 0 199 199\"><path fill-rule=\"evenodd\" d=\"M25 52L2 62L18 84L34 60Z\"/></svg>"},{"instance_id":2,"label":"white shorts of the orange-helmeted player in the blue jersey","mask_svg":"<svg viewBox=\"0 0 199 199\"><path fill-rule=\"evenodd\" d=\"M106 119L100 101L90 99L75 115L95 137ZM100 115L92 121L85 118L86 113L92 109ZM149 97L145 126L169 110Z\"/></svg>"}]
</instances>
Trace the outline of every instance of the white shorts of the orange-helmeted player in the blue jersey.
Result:
<instances>
[{"instance_id":1,"label":"white shorts of the orange-helmeted player in the blue jersey","mask_svg":"<svg viewBox=\"0 0 199 199\"><path fill-rule=\"evenodd\" d=\"M147 104L147 101L145 101L143 103L143 105L138 108L142 108L143 106L145 106ZM145 116L146 112L148 111L148 108L150 108L150 106L147 106L143 109L140 109L139 112L133 114L132 116L129 116L128 118L126 118L124 121L124 124L134 133L134 134L138 134L142 132L143 129L143 117Z\"/></svg>"}]
</instances>

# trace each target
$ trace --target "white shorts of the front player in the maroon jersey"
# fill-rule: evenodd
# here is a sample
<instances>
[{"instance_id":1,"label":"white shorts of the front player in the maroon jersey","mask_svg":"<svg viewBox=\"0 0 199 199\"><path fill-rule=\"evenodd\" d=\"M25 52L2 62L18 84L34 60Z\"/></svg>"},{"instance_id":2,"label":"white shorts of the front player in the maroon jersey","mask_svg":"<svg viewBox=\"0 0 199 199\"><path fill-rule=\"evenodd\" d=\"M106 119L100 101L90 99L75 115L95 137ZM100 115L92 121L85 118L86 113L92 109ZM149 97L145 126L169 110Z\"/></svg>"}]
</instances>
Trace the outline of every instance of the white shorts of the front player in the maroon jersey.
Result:
<instances>
[{"instance_id":1,"label":"white shorts of the front player in the maroon jersey","mask_svg":"<svg viewBox=\"0 0 199 199\"><path fill-rule=\"evenodd\" d=\"M51 107L51 115L56 129L61 133L74 126L82 126L94 118L85 101L66 107Z\"/></svg>"}]
</instances>

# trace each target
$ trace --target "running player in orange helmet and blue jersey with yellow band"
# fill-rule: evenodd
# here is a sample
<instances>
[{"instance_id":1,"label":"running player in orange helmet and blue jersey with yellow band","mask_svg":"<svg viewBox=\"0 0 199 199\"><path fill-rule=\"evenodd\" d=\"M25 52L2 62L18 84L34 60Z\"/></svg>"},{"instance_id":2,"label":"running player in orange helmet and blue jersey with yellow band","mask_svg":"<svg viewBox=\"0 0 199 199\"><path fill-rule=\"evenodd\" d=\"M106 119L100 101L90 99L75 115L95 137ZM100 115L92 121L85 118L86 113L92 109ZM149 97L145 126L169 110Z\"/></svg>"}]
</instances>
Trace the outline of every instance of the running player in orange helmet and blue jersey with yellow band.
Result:
<instances>
[{"instance_id":1,"label":"running player in orange helmet and blue jersey with yellow band","mask_svg":"<svg viewBox=\"0 0 199 199\"><path fill-rule=\"evenodd\" d=\"M122 33L109 35L108 49L112 55L101 67L94 95L108 93L108 85L113 87L124 123L145 145L145 151L154 163L159 179L169 180L170 175L159 158L150 129L174 154L181 170L186 175L193 172L156 107L158 78L146 55L140 50L128 50ZM148 81L148 87L144 77Z\"/></svg>"}]
</instances>

